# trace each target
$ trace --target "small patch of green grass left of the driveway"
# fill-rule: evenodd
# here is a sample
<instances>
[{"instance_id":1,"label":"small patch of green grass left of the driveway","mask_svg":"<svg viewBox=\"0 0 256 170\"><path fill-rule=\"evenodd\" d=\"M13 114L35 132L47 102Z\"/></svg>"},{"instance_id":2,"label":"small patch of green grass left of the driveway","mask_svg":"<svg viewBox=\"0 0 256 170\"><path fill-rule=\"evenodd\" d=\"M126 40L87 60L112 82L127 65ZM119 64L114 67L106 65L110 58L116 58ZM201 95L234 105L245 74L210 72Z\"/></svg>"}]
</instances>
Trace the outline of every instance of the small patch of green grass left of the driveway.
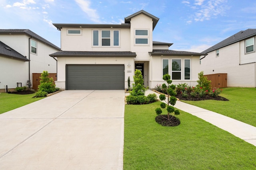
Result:
<instances>
[{"instance_id":1,"label":"small patch of green grass left of the driveway","mask_svg":"<svg viewBox=\"0 0 256 170\"><path fill-rule=\"evenodd\" d=\"M0 114L42 99L42 98L32 98L33 96L35 96L35 94L21 95L21 94L1 93L0 94Z\"/></svg>"}]
</instances>

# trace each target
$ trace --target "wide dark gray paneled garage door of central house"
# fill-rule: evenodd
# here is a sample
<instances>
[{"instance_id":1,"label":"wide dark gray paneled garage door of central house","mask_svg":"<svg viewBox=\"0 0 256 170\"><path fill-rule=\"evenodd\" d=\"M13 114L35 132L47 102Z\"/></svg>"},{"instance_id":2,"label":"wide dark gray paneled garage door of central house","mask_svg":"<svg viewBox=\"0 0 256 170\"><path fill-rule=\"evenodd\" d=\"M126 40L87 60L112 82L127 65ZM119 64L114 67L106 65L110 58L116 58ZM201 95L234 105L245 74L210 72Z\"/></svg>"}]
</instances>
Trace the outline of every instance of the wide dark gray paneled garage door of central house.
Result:
<instances>
[{"instance_id":1,"label":"wide dark gray paneled garage door of central house","mask_svg":"<svg viewBox=\"0 0 256 170\"><path fill-rule=\"evenodd\" d=\"M68 64L66 90L123 90L124 64Z\"/></svg>"}]
</instances>

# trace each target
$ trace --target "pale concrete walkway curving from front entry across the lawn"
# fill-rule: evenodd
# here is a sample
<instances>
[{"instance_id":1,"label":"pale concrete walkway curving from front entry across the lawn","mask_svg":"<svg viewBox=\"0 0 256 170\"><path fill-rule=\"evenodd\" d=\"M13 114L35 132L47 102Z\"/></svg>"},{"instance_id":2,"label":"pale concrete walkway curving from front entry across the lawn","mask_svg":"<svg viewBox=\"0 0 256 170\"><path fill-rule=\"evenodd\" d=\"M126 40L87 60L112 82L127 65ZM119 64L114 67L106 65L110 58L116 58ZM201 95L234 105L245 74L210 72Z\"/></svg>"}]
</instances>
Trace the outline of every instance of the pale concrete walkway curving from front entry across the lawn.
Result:
<instances>
[{"instance_id":1,"label":"pale concrete walkway curving from front entry across the lawn","mask_svg":"<svg viewBox=\"0 0 256 170\"><path fill-rule=\"evenodd\" d=\"M145 95L147 96L148 94L152 93L155 93L157 96L160 95L156 92L153 92L152 90L147 90ZM200 107L196 107L180 101L177 101L174 107L195 115L205 121L208 121L209 123L225 131L228 131L236 137L239 137L240 139L243 139L244 141L256 146L256 127L252 125L248 125L236 119L232 119L219 113L215 113L213 111L202 109Z\"/></svg>"}]
</instances>

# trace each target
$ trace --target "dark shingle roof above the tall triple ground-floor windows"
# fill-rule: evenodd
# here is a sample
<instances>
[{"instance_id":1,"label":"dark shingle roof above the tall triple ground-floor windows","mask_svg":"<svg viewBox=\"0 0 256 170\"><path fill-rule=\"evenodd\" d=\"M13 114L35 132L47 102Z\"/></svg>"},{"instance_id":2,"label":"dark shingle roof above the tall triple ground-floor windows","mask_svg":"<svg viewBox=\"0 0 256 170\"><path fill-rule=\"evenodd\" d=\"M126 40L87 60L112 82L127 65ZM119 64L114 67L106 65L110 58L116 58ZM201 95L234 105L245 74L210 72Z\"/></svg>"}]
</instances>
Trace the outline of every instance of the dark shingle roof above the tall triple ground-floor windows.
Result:
<instances>
[{"instance_id":1,"label":"dark shingle roof above the tall triple ground-floor windows","mask_svg":"<svg viewBox=\"0 0 256 170\"><path fill-rule=\"evenodd\" d=\"M153 50L150 53L152 56L161 56L161 55L183 55L183 56L201 56L201 55L208 55L206 53L194 53L188 51L174 51L174 50Z\"/></svg>"}]
</instances>

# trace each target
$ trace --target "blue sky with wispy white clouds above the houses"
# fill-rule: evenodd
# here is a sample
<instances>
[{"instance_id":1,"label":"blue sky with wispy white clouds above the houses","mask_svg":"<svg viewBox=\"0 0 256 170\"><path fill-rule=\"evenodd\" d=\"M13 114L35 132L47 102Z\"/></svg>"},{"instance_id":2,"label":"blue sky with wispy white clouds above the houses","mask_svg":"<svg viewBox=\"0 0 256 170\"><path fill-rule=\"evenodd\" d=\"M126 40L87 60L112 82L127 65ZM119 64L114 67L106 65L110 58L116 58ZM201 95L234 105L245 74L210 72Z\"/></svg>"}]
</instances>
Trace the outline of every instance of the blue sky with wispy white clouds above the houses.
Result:
<instances>
[{"instance_id":1,"label":"blue sky with wispy white clouds above the houses","mask_svg":"<svg viewBox=\"0 0 256 170\"><path fill-rule=\"evenodd\" d=\"M256 28L255 0L0 0L0 29L30 29L60 47L52 23L120 24L140 10L160 18L153 41L202 52Z\"/></svg>"}]
</instances>

